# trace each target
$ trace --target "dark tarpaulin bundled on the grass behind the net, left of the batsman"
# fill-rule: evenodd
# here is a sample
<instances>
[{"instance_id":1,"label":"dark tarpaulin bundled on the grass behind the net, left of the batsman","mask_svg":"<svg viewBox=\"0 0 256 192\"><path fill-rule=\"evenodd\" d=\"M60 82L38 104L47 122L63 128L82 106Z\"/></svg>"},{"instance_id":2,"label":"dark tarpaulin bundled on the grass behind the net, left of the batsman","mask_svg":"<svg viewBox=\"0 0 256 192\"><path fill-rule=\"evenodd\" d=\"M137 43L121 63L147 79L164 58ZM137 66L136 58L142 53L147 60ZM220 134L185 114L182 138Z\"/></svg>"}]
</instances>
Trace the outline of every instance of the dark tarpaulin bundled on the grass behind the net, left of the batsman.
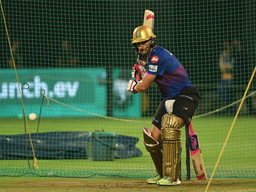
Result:
<instances>
[{"instance_id":1,"label":"dark tarpaulin bundled on the grass behind the net, left of the batsman","mask_svg":"<svg viewBox=\"0 0 256 192\"><path fill-rule=\"evenodd\" d=\"M135 144L139 138L116 135L115 158L141 156ZM35 155L38 159L87 159L86 143L90 132L65 131L31 134ZM105 145L107 140L102 140ZM0 159L33 159L28 134L0 135Z\"/></svg>"}]
</instances>

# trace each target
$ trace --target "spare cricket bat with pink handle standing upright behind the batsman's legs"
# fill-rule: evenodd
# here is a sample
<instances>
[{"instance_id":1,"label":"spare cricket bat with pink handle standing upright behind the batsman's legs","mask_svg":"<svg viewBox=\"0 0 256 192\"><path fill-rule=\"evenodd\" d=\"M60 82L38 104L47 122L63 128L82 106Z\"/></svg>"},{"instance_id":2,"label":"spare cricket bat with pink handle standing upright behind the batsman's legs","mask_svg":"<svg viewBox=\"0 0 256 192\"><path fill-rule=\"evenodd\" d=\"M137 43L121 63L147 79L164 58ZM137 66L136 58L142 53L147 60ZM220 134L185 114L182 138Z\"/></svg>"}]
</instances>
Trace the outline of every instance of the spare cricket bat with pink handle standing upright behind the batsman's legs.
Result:
<instances>
[{"instance_id":1,"label":"spare cricket bat with pink handle standing upright behind the batsman's legs","mask_svg":"<svg viewBox=\"0 0 256 192\"><path fill-rule=\"evenodd\" d=\"M193 167L197 180L207 180L207 174L204 168L204 160L199 146L198 135L194 132L192 122L189 125L189 148Z\"/></svg>"}]
</instances>

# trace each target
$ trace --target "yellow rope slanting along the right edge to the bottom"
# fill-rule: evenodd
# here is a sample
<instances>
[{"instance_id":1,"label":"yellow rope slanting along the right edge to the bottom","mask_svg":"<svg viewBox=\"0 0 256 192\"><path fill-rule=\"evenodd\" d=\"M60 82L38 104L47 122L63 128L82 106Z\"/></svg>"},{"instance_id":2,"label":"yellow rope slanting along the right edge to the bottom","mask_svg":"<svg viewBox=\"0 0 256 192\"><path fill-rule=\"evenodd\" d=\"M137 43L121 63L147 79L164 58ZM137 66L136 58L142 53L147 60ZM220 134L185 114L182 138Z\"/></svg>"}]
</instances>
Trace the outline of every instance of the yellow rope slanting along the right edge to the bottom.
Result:
<instances>
[{"instance_id":1,"label":"yellow rope slanting along the right edge to the bottom","mask_svg":"<svg viewBox=\"0 0 256 192\"><path fill-rule=\"evenodd\" d=\"M234 125L235 125L237 116L238 116L238 114L239 114L239 112L240 112L240 110L241 110L241 107L242 107L242 105L243 105L244 98L245 98L245 96L246 96L246 94L247 94L247 92L248 92L248 90L249 90L249 87L250 87L251 82L253 81L253 77L254 77L255 71L256 71L256 65L255 65L255 68L254 68L254 70L253 70L253 74L252 74L252 76L251 76L251 78L250 78L250 81L249 81L249 83L248 83L248 85L247 85L247 88L246 88L246 90L245 90L245 92L244 92L244 96L243 96L243 98L242 98L242 101L241 101L241 103L240 103L240 105L239 105L239 108L238 108L238 110L237 110L237 112L236 112L236 116L235 116L235 118L234 118L234 120L233 120L233 123L232 123L232 125L231 125L231 127L230 127L230 131L228 132L227 138L226 138L226 140L225 140L225 142L224 142L224 144L223 144L223 146L222 146L222 149L221 149L221 152L220 152L220 154L219 154L218 160L217 160L217 162L216 162L216 164L215 164L215 166L214 166L214 169L213 169L213 171L212 171L211 178L210 178L210 180L208 181L207 187L206 187L206 189L205 189L204 192L207 192L207 190L208 190L208 188L209 188L209 186L210 186L210 183L211 183L211 181L212 181L212 177L213 177L213 175L214 175L214 173L215 173L215 171L216 171L216 169L217 169L217 166L218 166L218 163L219 163L219 161L220 161L220 159L221 159L221 156L222 156L222 154L223 154L224 148L225 148L225 146L226 146L226 144L227 144L227 141L228 141L228 139L229 139L229 137L230 137L231 131L232 131Z\"/></svg>"}]
</instances>

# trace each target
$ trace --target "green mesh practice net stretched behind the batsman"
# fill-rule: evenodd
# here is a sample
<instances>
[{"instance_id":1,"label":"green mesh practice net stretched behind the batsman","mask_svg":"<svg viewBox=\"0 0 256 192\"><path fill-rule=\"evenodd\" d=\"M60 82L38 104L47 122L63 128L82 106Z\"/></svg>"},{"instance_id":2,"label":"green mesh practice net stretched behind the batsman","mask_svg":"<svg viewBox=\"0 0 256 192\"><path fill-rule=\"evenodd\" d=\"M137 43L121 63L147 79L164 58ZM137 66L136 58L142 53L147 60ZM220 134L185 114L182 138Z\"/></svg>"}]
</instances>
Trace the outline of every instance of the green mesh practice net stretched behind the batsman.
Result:
<instances>
[{"instance_id":1,"label":"green mesh practice net stretched behind the batsman","mask_svg":"<svg viewBox=\"0 0 256 192\"><path fill-rule=\"evenodd\" d=\"M193 124L210 176L256 64L255 0L6 0L2 5L20 87L29 84L29 88L25 84L22 89L26 115L32 112L39 115L41 89L58 102L44 98L39 126L38 119L28 121L25 130L2 15L0 176L149 177L155 174L141 128L151 127L152 116L161 100L159 91L154 84L143 94L126 91L131 67L136 62L131 49L132 32L142 25L145 9L155 13L154 33L159 45L176 55L201 92L202 100ZM228 73L223 71L226 68ZM255 86L254 78L215 177L256 176ZM27 128L33 136L39 169L32 166L29 138L23 135L28 133ZM138 138L133 146L134 150L138 149L136 155L113 159L111 156L104 161L87 158L84 150L91 138L76 133L95 130L109 134L105 138L107 145L113 143L113 135L126 136L121 138L123 143L130 142L127 138ZM66 143L59 140L58 133L67 134ZM40 134L45 134L49 142L41 148L47 154L44 158L40 158L43 152L38 150L43 144L36 142L42 139ZM76 135L74 140L73 135ZM106 151L113 155L121 147L105 144L98 146L99 153L95 153L98 157ZM66 145L70 148L64 150ZM128 150L126 146L121 151ZM186 175L185 150L183 129L182 177ZM195 177L192 166L191 174Z\"/></svg>"}]
</instances>

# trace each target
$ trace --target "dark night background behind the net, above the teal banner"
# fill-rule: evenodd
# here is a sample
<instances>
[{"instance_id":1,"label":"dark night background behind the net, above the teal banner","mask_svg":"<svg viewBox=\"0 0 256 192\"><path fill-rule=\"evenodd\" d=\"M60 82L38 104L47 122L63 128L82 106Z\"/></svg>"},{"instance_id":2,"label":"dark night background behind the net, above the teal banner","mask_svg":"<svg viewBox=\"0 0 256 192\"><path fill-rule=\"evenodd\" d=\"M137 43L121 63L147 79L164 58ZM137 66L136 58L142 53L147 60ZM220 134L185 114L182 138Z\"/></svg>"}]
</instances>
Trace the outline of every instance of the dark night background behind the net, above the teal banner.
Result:
<instances>
[{"instance_id":1,"label":"dark night background behind the net, above the teal banner","mask_svg":"<svg viewBox=\"0 0 256 192\"><path fill-rule=\"evenodd\" d=\"M123 78L129 79L136 62L132 32L143 24L145 9L155 13L159 45L175 54L202 94L210 93L221 79L218 58L225 40L241 42L247 60L234 71L235 77L244 78L242 84L248 83L256 63L255 0L6 0L2 4L10 41L21 42L24 68L57 67L61 42L68 39L79 58L75 67L106 67L109 87L114 67L122 67ZM0 67L8 68L11 56L3 17L1 26ZM158 98L155 88L148 93ZM107 94L112 98L111 92ZM107 105L112 104L108 100Z\"/></svg>"}]
</instances>

